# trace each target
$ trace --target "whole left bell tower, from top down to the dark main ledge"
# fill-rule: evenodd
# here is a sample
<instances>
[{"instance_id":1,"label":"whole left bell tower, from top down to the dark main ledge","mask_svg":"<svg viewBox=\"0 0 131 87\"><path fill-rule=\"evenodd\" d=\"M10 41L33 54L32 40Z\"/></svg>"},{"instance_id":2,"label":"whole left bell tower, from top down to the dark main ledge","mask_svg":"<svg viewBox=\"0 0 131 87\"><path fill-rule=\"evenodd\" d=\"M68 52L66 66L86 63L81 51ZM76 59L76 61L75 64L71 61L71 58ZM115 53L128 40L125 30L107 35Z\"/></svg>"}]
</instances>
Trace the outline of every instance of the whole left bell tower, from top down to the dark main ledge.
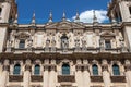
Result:
<instances>
[{"instance_id":1,"label":"whole left bell tower, from top down to the dark main ledge","mask_svg":"<svg viewBox=\"0 0 131 87\"><path fill-rule=\"evenodd\" d=\"M0 0L0 52L4 51L8 26L16 15L15 0Z\"/></svg>"}]
</instances>

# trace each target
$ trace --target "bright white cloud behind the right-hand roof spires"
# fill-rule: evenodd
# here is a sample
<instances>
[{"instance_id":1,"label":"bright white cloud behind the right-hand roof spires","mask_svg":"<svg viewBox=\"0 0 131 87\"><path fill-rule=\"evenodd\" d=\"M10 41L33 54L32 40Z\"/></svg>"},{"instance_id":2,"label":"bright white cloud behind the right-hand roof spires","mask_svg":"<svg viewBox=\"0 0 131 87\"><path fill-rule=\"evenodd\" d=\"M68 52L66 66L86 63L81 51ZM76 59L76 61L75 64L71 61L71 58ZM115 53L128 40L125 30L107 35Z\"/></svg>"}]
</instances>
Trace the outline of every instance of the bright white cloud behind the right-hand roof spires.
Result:
<instances>
[{"instance_id":1,"label":"bright white cloud behind the right-hand roof spires","mask_svg":"<svg viewBox=\"0 0 131 87\"><path fill-rule=\"evenodd\" d=\"M93 11L94 10L87 10L82 13L80 13L80 21L84 23L92 23L93 22ZM106 10L95 10L95 14L97 17L97 21L99 23L103 23L105 21L108 21L108 17L106 16L107 11ZM75 16L72 17L74 20Z\"/></svg>"}]
</instances>

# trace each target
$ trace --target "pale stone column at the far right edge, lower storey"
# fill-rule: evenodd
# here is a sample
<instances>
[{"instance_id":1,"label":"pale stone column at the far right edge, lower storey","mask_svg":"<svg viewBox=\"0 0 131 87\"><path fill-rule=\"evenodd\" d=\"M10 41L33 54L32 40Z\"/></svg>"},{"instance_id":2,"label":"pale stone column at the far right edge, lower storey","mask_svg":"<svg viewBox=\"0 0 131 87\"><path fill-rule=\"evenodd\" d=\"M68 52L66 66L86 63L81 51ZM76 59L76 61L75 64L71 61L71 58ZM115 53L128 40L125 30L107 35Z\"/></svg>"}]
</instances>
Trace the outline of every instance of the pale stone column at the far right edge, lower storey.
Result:
<instances>
[{"instance_id":1,"label":"pale stone column at the far right edge, lower storey","mask_svg":"<svg viewBox=\"0 0 131 87\"><path fill-rule=\"evenodd\" d=\"M127 83L128 87L131 87L131 63L129 60L126 61L126 77L127 77Z\"/></svg>"}]
</instances>

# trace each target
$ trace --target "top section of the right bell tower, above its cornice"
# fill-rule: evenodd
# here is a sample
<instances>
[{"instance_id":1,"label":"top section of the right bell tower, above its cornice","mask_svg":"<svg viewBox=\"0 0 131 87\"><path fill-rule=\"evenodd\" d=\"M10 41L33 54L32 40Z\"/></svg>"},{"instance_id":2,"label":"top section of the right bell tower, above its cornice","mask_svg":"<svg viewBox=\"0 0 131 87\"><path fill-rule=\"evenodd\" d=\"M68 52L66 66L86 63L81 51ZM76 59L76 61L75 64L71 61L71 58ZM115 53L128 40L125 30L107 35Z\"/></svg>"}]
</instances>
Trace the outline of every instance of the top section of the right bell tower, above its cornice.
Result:
<instances>
[{"instance_id":1,"label":"top section of the right bell tower, above its cornice","mask_svg":"<svg viewBox=\"0 0 131 87\"><path fill-rule=\"evenodd\" d=\"M111 0L107 15L112 22L131 22L131 0Z\"/></svg>"}]
</instances>

